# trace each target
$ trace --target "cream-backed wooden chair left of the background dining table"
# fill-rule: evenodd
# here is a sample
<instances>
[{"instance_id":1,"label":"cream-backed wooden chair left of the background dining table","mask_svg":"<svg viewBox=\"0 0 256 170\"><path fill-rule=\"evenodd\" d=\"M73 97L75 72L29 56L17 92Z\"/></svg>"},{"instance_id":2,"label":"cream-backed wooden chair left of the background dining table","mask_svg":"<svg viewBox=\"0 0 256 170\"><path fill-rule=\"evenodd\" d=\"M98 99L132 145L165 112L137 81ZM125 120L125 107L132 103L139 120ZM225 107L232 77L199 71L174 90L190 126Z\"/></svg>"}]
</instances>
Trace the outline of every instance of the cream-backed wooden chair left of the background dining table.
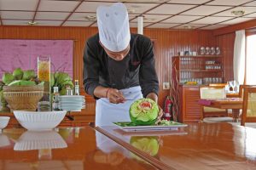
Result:
<instances>
[{"instance_id":1,"label":"cream-backed wooden chair left of the background dining table","mask_svg":"<svg viewBox=\"0 0 256 170\"><path fill-rule=\"evenodd\" d=\"M219 87L201 87L200 97L201 99L224 99L226 97L225 89ZM202 106L201 121L232 122L232 117L228 116L228 111L225 109Z\"/></svg>"}]
</instances>

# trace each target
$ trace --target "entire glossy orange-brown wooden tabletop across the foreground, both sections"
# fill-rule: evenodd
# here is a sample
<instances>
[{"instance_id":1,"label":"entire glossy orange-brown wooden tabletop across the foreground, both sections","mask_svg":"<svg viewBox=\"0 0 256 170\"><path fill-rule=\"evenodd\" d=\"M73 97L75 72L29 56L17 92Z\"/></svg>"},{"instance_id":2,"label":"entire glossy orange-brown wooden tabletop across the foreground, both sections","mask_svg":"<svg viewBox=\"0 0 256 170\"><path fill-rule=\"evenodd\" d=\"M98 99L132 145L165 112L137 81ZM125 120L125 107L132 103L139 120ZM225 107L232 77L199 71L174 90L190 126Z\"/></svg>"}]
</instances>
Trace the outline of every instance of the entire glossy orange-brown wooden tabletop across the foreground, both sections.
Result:
<instances>
[{"instance_id":1,"label":"entire glossy orange-brown wooden tabletop across the foreground, both sections","mask_svg":"<svg viewBox=\"0 0 256 170\"><path fill-rule=\"evenodd\" d=\"M254 170L256 129L196 123L125 131L113 125L0 133L0 167L8 169Z\"/></svg>"}]
</instances>

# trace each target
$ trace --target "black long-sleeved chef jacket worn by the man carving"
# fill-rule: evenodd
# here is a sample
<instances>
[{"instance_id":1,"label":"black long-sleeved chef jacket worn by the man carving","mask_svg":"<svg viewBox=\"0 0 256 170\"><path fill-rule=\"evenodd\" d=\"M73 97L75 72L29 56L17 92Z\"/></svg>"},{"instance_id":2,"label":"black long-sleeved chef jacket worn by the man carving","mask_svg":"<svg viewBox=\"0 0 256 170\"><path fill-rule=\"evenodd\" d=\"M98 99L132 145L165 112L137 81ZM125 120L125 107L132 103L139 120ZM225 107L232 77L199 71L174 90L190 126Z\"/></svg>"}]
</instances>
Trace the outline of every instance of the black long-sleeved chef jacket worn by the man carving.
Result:
<instances>
[{"instance_id":1,"label":"black long-sleeved chef jacket worn by the man carving","mask_svg":"<svg viewBox=\"0 0 256 170\"><path fill-rule=\"evenodd\" d=\"M108 57L98 34L90 37L84 48L84 90L94 96L97 86L117 89L141 86L143 97L149 93L158 94L159 82L150 39L131 34L129 54L116 61Z\"/></svg>"}]
</instances>

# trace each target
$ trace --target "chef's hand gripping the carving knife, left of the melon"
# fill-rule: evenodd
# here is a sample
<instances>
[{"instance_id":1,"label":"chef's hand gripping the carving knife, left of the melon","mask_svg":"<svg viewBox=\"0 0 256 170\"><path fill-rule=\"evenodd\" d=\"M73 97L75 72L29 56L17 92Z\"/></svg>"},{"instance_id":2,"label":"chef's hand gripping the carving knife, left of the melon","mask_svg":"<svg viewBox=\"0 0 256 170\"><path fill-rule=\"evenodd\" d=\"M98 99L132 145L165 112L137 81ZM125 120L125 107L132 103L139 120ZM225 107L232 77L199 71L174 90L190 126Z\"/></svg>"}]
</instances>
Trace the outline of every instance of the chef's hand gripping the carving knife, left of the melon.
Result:
<instances>
[{"instance_id":1,"label":"chef's hand gripping the carving knife, left of the melon","mask_svg":"<svg viewBox=\"0 0 256 170\"><path fill-rule=\"evenodd\" d=\"M119 104L125 102L124 95L116 88L108 88L107 98L110 103Z\"/></svg>"}]
</instances>

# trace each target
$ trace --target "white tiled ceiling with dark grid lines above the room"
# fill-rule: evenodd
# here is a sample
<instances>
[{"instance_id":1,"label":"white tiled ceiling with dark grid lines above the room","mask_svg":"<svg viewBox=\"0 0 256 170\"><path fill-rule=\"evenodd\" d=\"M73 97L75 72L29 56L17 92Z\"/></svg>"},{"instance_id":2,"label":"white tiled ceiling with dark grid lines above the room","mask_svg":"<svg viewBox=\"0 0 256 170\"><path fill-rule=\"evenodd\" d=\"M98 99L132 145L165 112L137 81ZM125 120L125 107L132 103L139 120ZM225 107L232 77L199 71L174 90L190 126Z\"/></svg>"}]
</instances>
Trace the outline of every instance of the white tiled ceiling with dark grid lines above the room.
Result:
<instances>
[{"instance_id":1,"label":"white tiled ceiling with dark grid lines above the room","mask_svg":"<svg viewBox=\"0 0 256 170\"><path fill-rule=\"evenodd\" d=\"M96 26L96 8L116 2L128 8L131 27L140 15L145 28L205 30L256 18L256 0L0 0L0 26Z\"/></svg>"}]
</instances>

